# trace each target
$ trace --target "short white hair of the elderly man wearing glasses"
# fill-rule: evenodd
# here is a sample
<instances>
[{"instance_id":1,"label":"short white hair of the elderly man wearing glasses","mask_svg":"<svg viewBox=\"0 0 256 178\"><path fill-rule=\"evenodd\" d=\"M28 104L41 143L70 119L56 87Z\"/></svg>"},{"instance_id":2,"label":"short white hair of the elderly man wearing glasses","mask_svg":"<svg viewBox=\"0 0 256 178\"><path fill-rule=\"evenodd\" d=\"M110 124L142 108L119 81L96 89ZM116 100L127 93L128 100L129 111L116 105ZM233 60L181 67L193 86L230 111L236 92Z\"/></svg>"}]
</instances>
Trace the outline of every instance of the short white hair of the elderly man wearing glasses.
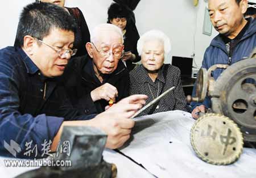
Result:
<instances>
[{"instance_id":1,"label":"short white hair of the elderly man wearing glasses","mask_svg":"<svg viewBox=\"0 0 256 178\"><path fill-rule=\"evenodd\" d=\"M100 34L106 33L109 31L116 32L118 35L120 35L123 43L123 33L121 29L109 23L98 24L96 27L94 27L92 33L90 33L90 41L93 43L96 43L96 41L98 41L98 37L100 36Z\"/></svg>"}]
</instances>

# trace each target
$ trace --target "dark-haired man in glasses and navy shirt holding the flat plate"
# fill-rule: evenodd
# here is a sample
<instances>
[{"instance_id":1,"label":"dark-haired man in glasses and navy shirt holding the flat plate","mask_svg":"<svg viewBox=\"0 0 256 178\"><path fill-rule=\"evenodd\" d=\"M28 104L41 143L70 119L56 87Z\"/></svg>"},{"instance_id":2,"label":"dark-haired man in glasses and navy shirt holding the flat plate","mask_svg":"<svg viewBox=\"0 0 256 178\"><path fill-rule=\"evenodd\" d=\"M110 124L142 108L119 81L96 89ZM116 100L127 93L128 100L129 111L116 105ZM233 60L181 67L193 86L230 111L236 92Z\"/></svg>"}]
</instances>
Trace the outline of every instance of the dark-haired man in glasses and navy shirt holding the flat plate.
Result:
<instances>
[{"instance_id":1,"label":"dark-haired man in glasses and navy shirt holding the flat plate","mask_svg":"<svg viewBox=\"0 0 256 178\"><path fill-rule=\"evenodd\" d=\"M16 42L0 50L0 155L27 158L26 150L55 151L63 126L93 126L108 134L106 147L129 139L130 118L147 96L121 100L100 115L79 115L55 77L71 56L75 23L63 8L32 3L20 15ZM18 147L17 147L18 145ZM40 154L41 153L41 154ZM44 152L43 152L44 153Z\"/></svg>"}]
</instances>

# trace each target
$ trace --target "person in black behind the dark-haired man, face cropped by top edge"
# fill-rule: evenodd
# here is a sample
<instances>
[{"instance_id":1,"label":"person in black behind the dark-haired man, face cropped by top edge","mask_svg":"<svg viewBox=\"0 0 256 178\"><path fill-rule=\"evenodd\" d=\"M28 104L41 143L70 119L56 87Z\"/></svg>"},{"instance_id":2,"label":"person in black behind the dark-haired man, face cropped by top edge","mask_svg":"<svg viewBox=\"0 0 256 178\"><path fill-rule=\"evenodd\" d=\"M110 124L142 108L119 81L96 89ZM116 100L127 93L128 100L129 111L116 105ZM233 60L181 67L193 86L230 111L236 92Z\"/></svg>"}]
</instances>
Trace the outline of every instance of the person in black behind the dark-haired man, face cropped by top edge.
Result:
<instances>
[{"instance_id":1,"label":"person in black behind the dark-haired man, face cropped by top edge","mask_svg":"<svg viewBox=\"0 0 256 178\"><path fill-rule=\"evenodd\" d=\"M69 12L69 14L73 16L73 18L75 18L78 27L76 29L73 48L77 49L77 53L73 57L84 56L85 54L87 54L85 44L87 42L90 42L90 32L86 24L84 15L82 14L82 11L77 7L64 7L65 0L41 0L41 2L54 3L57 6L63 7Z\"/></svg>"}]
</instances>

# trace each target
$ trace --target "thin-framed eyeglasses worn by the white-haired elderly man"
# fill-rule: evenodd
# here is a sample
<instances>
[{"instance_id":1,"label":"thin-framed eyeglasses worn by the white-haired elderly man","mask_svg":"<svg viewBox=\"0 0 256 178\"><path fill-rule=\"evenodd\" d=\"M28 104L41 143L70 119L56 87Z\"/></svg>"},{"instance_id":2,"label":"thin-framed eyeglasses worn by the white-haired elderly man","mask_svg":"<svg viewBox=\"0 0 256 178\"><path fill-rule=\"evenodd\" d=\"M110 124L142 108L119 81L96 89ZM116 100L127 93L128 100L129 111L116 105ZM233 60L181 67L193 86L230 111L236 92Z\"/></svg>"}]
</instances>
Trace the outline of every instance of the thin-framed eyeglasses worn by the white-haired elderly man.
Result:
<instances>
[{"instance_id":1,"label":"thin-framed eyeglasses worn by the white-haired elderly man","mask_svg":"<svg viewBox=\"0 0 256 178\"><path fill-rule=\"evenodd\" d=\"M101 57L108 58L111 53L113 54L113 57L115 59L119 60L120 58L123 57L123 49L122 49L123 46L122 45L113 46L112 51L111 50L103 50L103 49L98 50L94 44L93 44L93 46L97 50L97 52L100 53Z\"/></svg>"}]
</instances>

